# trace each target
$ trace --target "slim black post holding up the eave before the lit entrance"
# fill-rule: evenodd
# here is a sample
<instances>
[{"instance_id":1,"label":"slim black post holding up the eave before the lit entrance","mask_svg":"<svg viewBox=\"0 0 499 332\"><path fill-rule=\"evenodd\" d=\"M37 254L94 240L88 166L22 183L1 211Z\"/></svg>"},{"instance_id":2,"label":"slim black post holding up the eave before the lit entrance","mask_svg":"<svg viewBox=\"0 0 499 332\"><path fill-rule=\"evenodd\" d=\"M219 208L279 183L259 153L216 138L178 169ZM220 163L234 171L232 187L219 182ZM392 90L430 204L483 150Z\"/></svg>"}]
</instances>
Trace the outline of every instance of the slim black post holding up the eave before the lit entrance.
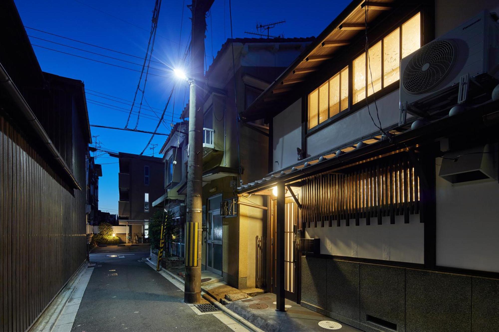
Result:
<instances>
[{"instance_id":1,"label":"slim black post holding up the eave before the lit entrance","mask_svg":"<svg viewBox=\"0 0 499 332\"><path fill-rule=\"evenodd\" d=\"M277 183L277 207L276 207L276 247L275 247L275 279L277 305L276 311L286 311L284 307L284 225L285 225L285 192L284 183Z\"/></svg>"}]
</instances>

